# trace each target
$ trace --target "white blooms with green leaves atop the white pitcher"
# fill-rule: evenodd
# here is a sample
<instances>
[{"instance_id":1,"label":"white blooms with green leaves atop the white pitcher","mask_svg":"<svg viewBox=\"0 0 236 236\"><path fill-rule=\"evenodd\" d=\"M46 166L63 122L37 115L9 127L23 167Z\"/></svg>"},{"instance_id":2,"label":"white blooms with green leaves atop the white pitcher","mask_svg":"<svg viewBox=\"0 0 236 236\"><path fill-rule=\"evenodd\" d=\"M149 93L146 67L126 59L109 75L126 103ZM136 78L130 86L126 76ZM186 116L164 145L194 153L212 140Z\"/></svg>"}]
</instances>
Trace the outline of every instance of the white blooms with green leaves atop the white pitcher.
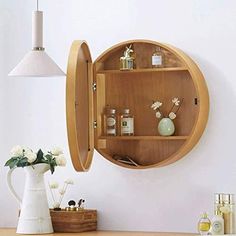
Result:
<instances>
[{"instance_id":1,"label":"white blooms with green leaves atop the white pitcher","mask_svg":"<svg viewBox=\"0 0 236 236\"><path fill-rule=\"evenodd\" d=\"M17 145L10 151L11 158L5 163L10 169L15 167L34 166L45 163L50 166L51 173L55 171L56 166L65 166L66 159L61 148L53 148L51 151L43 152L39 149L36 153L30 148Z\"/></svg>"}]
</instances>

